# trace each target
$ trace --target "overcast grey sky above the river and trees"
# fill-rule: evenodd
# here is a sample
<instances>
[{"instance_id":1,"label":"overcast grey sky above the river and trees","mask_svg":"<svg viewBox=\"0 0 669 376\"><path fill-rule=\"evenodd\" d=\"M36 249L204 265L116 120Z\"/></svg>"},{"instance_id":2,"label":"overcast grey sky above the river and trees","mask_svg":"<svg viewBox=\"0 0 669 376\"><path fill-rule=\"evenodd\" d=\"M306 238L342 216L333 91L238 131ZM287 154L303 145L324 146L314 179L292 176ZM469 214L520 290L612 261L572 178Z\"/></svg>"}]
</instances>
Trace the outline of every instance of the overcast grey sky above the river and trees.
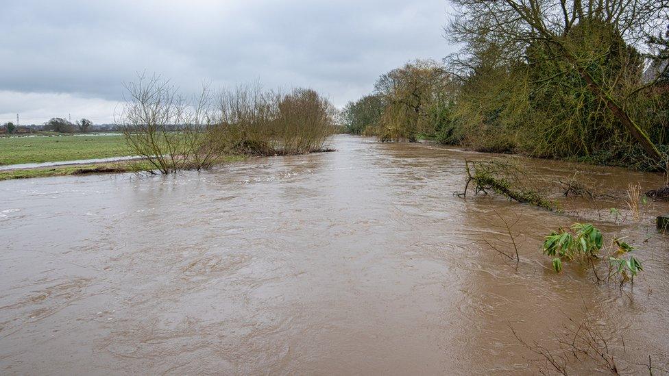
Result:
<instances>
[{"instance_id":1,"label":"overcast grey sky above the river and trees","mask_svg":"<svg viewBox=\"0 0 669 376\"><path fill-rule=\"evenodd\" d=\"M111 123L142 71L185 93L259 80L342 106L380 74L452 50L446 0L1 1L0 123Z\"/></svg>"}]
</instances>

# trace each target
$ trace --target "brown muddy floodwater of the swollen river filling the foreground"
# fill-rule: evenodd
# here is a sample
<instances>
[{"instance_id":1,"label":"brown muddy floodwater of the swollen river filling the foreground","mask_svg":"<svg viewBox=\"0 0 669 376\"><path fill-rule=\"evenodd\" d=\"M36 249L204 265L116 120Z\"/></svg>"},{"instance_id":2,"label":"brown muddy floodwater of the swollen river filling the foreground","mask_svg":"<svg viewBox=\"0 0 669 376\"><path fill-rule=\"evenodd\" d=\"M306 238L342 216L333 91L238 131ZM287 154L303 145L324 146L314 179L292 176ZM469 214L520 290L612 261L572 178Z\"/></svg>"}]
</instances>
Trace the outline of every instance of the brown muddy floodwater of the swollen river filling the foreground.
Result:
<instances>
[{"instance_id":1,"label":"brown muddy floodwater of the swollen river filling the foreground","mask_svg":"<svg viewBox=\"0 0 669 376\"><path fill-rule=\"evenodd\" d=\"M599 218L626 213L618 199L581 217L465 201L452 195L463 160L486 155L350 136L332 146L169 177L0 182L0 373L534 374L540 357L511 328L557 351L586 309L622 373L647 373L649 355L655 375L669 369L669 236L651 222L668 205L613 223ZM617 192L664 185L524 164L583 170ZM509 249L496 213L520 216L518 266L483 242ZM583 216L607 242L639 247L648 262L633 288L574 264L549 270L543 236Z\"/></svg>"}]
</instances>

